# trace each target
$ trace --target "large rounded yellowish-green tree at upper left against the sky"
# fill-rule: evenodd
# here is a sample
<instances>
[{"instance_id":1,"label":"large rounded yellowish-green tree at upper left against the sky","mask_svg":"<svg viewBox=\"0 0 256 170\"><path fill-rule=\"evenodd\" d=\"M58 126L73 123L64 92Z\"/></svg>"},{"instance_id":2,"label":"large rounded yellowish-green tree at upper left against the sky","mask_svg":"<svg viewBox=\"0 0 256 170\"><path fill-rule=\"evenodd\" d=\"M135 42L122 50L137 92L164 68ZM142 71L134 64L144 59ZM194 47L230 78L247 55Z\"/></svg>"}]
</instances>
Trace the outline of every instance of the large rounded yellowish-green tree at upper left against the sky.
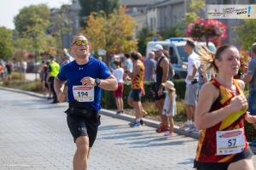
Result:
<instances>
[{"instance_id":1,"label":"large rounded yellowish-green tree at upper left against the sky","mask_svg":"<svg viewBox=\"0 0 256 170\"><path fill-rule=\"evenodd\" d=\"M15 16L15 47L38 54L53 45L54 39L46 35L49 19L50 11L45 4L21 8Z\"/></svg>"}]
</instances>

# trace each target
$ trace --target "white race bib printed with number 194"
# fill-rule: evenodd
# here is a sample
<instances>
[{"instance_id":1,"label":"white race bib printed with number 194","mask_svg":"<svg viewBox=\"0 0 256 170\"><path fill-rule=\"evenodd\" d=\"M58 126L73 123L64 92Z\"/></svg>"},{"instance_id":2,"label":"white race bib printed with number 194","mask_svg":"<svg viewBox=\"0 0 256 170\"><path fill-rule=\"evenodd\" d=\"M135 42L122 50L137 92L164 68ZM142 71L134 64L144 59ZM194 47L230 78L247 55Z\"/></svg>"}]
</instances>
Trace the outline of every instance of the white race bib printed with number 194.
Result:
<instances>
[{"instance_id":1,"label":"white race bib printed with number 194","mask_svg":"<svg viewBox=\"0 0 256 170\"><path fill-rule=\"evenodd\" d=\"M73 86L73 98L79 102L94 101L94 86Z\"/></svg>"}]
</instances>

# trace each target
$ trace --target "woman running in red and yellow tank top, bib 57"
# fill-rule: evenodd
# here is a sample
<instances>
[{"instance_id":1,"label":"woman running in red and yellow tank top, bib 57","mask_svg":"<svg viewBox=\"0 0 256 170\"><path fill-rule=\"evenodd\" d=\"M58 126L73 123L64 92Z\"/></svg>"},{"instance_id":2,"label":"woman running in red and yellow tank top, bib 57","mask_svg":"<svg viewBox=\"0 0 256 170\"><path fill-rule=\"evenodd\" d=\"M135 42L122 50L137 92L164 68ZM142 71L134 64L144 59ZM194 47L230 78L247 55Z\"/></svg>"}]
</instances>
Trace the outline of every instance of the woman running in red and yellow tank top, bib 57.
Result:
<instances>
[{"instance_id":1,"label":"woman running in red and yellow tank top, bib 57","mask_svg":"<svg viewBox=\"0 0 256 170\"><path fill-rule=\"evenodd\" d=\"M248 147L244 120L247 99L242 93L244 82L234 80L240 67L235 46L224 45L212 54L207 48L197 52L203 65L209 65L217 77L200 91L195 111L195 126L201 130L195 157L198 170L252 170L253 152Z\"/></svg>"}]
</instances>

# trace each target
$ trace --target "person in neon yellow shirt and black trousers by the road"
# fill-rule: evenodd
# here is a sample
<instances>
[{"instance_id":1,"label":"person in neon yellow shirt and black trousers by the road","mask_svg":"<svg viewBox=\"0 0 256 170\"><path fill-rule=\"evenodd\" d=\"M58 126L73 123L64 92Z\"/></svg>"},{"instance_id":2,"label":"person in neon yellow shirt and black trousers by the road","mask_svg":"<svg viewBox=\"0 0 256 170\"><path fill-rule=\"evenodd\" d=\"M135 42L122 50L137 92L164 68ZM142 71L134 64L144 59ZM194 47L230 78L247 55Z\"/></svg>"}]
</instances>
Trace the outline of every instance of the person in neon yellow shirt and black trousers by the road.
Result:
<instances>
[{"instance_id":1,"label":"person in neon yellow shirt and black trousers by the road","mask_svg":"<svg viewBox=\"0 0 256 170\"><path fill-rule=\"evenodd\" d=\"M55 62L55 56L50 56L48 82L49 82L49 89L53 94L52 104L58 103L58 98L54 88L54 80L55 80L55 77L58 75L59 71L60 71L60 65L57 62Z\"/></svg>"}]
</instances>

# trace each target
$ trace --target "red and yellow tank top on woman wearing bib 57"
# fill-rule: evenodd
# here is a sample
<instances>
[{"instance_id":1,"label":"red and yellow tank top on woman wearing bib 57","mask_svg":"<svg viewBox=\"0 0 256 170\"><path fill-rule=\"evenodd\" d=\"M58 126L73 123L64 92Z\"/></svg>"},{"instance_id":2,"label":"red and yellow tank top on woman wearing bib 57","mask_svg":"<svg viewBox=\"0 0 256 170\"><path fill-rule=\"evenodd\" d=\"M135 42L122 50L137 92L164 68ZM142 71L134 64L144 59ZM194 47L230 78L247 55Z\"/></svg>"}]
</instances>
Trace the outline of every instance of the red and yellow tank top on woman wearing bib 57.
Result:
<instances>
[{"instance_id":1,"label":"red and yellow tank top on woman wearing bib 57","mask_svg":"<svg viewBox=\"0 0 256 170\"><path fill-rule=\"evenodd\" d=\"M241 88L239 87L236 80L234 80L234 85L236 86L236 92L238 94L243 94ZM212 80L212 84L219 89L218 99L213 103L210 111L217 111L218 109L224 107L225 105L230 104L230 100L236 95L230 92L227 88L222 86L216 79ZM244 108L239 111L234 111L230 113L229 116L224 118L222 122L218 122L213 127L209 127L207 129L203 129L200 133L198 146L196 150L195 163L203 162L203 163L212 163L212 162L230 162L232 158L236 156L236 154L232 155L217 155L217 139L216 132L217 131L227 131L233 130L237 128L242 128L244 131L244 116L247 111L247 108ZM246 136L245 139L245 148L248 149L248 143Z\"/></svg>"}]
</instances>

